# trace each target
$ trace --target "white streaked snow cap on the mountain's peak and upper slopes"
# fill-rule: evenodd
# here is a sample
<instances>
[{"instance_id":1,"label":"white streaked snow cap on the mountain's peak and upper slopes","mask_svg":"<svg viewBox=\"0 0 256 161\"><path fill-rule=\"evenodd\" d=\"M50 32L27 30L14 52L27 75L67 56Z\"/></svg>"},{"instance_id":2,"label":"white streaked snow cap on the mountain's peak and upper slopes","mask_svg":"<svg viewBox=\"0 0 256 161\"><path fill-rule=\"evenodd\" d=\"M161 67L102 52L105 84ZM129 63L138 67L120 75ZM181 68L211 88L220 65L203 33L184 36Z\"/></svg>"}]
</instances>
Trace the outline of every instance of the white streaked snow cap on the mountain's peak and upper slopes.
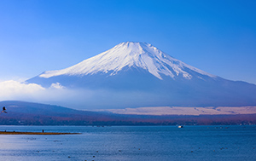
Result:
<instances>
[{"instance_id":1,"label":"white streaked snow cap on the mountain's peak and upper slopes","mask_svg":"<svg viewBox=\"0 0 256 161\"><path fill-rule=\"evenodd\" d=\"M62 70L44 72L39 77L84 76L98 72L109 73L109 76L113 76L127 66L143 68L159 79L163 79L160 74L171 78L181 75L183 78L191 79L193 76L189 70L211 78L216 77L166 55L149 43L133 42L119 43L113 49L84 60L77 65Z\"/></svg>"}]
</instances>

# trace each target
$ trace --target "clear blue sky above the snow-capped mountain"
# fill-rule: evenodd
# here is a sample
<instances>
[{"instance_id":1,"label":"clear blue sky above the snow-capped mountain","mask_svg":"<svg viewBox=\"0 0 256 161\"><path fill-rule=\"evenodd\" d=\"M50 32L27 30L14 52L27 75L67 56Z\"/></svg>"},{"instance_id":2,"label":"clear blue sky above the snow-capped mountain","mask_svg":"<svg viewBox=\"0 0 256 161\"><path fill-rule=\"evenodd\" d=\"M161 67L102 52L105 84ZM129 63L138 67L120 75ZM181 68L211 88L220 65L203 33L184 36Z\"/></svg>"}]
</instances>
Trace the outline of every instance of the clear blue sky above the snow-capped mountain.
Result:
<instances>
[{"instance_id":1,"label":"clear blue sky above the snow-capped mountain","mask_svg":"<svg viewBox=\"0 0 256 161\"><path fill-rule=\"evenodd\" d=\"M73 66L126 42L256 83L256 1L1 0L0 80Z\"/></svg>"}]
</instances>

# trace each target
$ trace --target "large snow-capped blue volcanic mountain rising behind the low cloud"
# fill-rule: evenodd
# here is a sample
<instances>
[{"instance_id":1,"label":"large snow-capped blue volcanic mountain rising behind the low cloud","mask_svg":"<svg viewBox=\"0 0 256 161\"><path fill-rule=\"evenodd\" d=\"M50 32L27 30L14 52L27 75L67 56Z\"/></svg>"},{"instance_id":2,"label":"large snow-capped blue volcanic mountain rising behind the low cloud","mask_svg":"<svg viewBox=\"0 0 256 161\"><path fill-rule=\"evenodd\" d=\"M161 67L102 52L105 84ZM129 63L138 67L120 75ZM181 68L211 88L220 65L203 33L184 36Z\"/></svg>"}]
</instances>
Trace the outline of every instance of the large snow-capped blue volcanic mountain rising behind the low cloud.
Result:
<instances>
[{"instance_id":1,"label":"large snow-capped blue volcanic mountain rising behind the low cloud","mask_svg":"<svg viewBox=\"0 0 256 161\"><path fill-rule=\"evenodd\" d=\"M84 106L99 108L256 105L255 84L214 76L149 43L119 43L100 55L66 69L43 72L26 83L97 91L99 95Z\"/></svg>"}]
</instances>

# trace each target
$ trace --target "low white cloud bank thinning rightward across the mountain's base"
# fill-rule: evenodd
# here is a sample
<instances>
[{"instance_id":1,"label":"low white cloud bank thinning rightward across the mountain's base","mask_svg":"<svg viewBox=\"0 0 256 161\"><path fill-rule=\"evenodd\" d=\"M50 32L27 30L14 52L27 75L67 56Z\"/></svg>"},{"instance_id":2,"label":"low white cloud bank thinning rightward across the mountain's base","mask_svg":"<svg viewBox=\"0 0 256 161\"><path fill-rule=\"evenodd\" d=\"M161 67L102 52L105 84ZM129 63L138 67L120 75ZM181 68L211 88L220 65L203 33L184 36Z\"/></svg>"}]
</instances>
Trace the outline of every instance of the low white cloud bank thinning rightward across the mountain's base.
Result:
<instances>
[{"instance_id":1,"label":"low white cloud bank thinning rightward across the mountain's base","mask_svg":"<svg viewBox=\"0 0 256 161\"><path fill-rule=\"evenodd\" d=\"M158 98L140 91L68 89L57 82L44 88L37 83L21 83L15 80L0 82L0 101L31 101L84 110L166 104L160 96Z\"/></svg>"}]
</instances>

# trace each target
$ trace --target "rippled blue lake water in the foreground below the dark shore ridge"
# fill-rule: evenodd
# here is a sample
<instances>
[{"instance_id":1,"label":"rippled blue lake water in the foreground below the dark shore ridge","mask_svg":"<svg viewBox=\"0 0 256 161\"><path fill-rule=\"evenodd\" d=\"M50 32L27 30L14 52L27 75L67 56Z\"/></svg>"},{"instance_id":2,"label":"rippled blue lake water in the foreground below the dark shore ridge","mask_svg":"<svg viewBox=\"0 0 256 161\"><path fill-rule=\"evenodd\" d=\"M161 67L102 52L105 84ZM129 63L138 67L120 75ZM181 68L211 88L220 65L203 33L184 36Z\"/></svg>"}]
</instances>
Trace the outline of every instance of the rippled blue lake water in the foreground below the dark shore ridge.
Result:
<instances>
[{"instance_id":1,"label":"rippled blue lake water in the foreground below the dark shore ridge","mask_svg":"<svg viewBox=\"0 0 256 161\"><path fill-rule=\"evenodd\" d=\"M256 126L0 126L0 160L256 160Z\"/></svg>"}]
</instances>

